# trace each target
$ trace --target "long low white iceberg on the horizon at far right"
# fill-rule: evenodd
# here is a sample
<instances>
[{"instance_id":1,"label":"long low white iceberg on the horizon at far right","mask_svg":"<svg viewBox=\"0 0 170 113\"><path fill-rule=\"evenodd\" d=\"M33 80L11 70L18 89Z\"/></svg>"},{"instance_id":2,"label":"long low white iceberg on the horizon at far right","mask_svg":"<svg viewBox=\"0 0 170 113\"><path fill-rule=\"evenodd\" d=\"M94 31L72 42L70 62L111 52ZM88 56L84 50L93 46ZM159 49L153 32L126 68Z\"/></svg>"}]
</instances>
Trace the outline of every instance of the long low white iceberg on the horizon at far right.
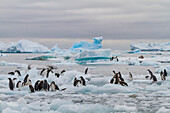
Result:
<instances>
[{"instance_id":1,"label":"long low white iceberg on the horizon at far right","mask_svg":"<svg viewBox=\"0 0 170 113\"><path fill-rule=\"evenodd\" d=\"M144 43L140 42L138 44L131 44L130 49L132 51L134 50L140 50L140 51L170 51L170 42L167 43Z\"/></svg>"}]
</instances>

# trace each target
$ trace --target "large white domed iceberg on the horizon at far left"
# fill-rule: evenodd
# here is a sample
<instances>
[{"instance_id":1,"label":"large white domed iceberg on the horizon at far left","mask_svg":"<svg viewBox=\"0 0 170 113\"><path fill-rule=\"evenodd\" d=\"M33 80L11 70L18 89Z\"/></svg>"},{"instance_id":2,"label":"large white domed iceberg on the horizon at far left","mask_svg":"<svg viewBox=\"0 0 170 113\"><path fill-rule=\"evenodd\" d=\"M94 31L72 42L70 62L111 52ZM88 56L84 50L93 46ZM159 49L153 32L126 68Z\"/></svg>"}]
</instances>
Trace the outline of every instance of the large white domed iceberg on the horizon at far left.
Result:
<instances>
[{"instance_id":1,"label":"large white domed iceberg on the horizon at far left","mask_svg":"<svg viewBox=\"0 0 170 113\"><path fill-rule=\"evenodd\" d=\"M1 53L49 53L47 47L29 40L20 40L18 42L3 43L0 42Z\"/></svg>"}]
</instances>

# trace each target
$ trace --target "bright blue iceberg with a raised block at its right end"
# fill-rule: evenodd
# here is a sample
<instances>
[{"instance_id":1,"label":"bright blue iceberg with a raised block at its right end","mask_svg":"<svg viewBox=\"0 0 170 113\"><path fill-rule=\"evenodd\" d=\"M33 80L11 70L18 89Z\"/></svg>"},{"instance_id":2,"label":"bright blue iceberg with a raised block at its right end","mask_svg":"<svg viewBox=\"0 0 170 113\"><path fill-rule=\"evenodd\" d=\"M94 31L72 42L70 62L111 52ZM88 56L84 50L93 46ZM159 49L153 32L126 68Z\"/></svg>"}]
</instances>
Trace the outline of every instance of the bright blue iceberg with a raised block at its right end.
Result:
<instances>
[{"instance_id":1,"label":"bright blue iceberg with a raised block at its right end","mask_svg":"<svg viewBox=\"0 0 170 113\"><path fill-rule=\"evenodd\" d=\"M73 47L70 48L70 51L73 52L82 52L82 50L94 50L102 48L103 37L93 38L93 43L86 41L80 41L73 44Z\"/></svg>"}]
</instances>

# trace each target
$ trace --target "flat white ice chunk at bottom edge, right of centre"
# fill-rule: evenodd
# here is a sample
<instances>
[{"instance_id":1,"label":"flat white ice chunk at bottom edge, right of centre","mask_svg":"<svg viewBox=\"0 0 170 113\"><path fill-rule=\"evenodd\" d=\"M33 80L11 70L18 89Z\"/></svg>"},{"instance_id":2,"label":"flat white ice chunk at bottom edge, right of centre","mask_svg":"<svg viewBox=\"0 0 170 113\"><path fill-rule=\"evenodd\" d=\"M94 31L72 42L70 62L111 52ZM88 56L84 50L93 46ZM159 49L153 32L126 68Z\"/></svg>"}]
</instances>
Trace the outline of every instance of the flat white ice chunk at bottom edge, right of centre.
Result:
<instances>
[{"instance_id":1,"label":"flat white ice chunk at bottom edge, right of centre","mask_svg":"<svg viewBox=\"0 0 170 113\"><path fill-rule=\"evenodd\" d=\"M137 109L136 107L130 107L125 105L116 105L114 107L115 112L126 112L126 113L136 113Z\"/></svg>"}]
</instances>

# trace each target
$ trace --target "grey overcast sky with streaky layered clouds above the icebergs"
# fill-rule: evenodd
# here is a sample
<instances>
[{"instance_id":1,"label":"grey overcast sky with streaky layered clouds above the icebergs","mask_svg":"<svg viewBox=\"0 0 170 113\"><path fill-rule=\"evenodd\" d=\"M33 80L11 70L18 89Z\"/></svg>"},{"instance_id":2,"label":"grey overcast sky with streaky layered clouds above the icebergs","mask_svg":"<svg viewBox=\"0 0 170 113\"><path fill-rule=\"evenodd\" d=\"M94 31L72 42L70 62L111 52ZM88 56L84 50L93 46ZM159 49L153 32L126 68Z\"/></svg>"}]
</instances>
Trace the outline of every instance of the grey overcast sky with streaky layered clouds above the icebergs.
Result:
<instances>
[{"instance_id":1,"label":"grey overcast sky with streaky layered clouds above the icebergs","mask_svg":"<svg viewBox=\"0 0 170 113\"><path fill-rule=\"evenodd\" d=\"M0 38L169 39L170 0L0 0Z\"/></svg>"}]
</instances>

